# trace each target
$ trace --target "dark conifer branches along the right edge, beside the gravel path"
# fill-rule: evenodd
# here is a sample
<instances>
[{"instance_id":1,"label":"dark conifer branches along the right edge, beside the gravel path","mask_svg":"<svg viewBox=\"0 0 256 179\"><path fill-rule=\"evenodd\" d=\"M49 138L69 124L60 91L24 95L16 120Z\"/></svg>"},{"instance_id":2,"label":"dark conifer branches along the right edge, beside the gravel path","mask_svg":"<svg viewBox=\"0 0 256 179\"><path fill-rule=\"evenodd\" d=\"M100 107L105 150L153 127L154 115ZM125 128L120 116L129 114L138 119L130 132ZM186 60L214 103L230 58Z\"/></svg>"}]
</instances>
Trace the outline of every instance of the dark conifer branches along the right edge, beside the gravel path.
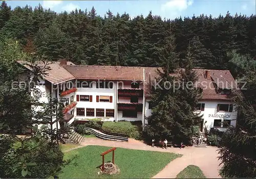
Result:
<instances>
[{"instance_id":1,"label":"dark conifer branches along the right edge, beside the gravel path","mask_svg":"<svg viewBox=\"0 0 256 179\"><path fill-rule=\"evenodd\" d=\"M242 90L245 95L238 93L233 98L238 112L236 127L229 127L220 141L221 174L230 178L256 177L255 69L246 71L244 79L248 82L245 86L247 90Z\"/></svg>"}]
</instances>

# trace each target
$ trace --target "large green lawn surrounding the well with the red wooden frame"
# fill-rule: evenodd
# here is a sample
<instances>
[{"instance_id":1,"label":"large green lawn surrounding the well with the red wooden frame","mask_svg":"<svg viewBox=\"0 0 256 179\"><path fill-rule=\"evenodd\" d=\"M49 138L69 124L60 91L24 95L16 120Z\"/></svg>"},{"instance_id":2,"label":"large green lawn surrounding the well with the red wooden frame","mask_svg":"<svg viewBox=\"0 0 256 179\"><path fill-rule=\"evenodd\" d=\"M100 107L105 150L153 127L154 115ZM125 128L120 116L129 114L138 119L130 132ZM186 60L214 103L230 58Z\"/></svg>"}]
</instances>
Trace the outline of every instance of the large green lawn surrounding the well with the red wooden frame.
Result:
<instances>
[{"instance_id":1,"label":"large green lawn surrounding the well with the red wooden frame","mask_svg":"<svg viewBox=\"0 0 256 179\"><path fill-rule=\"evenodd\" d=\"M150 178L161 171L170 161L181 157L169 152L133 150L117 148L115 150L115 164L120 173L106 175L97 173L102 163L100 154L111 147L86 146L69 151L64 159L72 159L77 164L63 168L60 178ZM105 156L105 162L112 162L112 153Z\"/></svg>"}]
</instances>

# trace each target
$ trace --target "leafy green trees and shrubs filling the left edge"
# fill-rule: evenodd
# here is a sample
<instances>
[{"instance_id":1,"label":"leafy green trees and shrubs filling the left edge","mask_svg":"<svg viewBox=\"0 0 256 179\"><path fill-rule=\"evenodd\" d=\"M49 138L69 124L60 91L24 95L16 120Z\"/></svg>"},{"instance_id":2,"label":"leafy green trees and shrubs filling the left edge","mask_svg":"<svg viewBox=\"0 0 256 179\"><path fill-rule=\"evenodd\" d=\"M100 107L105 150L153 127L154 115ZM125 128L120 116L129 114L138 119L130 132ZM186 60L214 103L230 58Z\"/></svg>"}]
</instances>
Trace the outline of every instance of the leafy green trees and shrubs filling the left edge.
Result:
<instances>
[{"instance_id":1,"label":"leafy green trees and shrubs filling the left edge","mask_svg":"<svg viewBox=\"0 0 256 179\"><path fill-rule=\"evenodd\" d=\"M29 91L47 69L34 65L39 57L23 53L16 40L1 37L0 48L0 177L48 177L56 174L69 163L62 161L62 153L55 140L62 133L55 134L42 123L49 123L53 112L57 112L56 118L61 121L62 108L59 101L39 103ZM34 75L32 82L17 59L28 62ZM24 87L18 88L12 82L23 82ZM35 110L37 107L41 110ZM33 134L27 138L16 137L24 130L32 130Z\"/></svg>"}]
</instances>

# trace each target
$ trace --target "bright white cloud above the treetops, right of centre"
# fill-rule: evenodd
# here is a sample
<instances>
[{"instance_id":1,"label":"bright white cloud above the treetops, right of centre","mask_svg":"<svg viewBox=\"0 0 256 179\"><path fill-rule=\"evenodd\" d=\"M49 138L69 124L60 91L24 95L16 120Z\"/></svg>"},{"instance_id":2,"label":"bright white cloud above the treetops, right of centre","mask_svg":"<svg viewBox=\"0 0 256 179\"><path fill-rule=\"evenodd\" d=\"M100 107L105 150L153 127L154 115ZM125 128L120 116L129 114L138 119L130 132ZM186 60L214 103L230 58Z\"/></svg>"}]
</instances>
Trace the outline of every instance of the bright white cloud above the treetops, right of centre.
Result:
<instances>
[{"instance_id":1,"label":"bright white cloud above the treetops, right of centre","mask_svg":"<svg viewBox=\"0 0 256 179\"><path fill-rule=\"evenodd\" d=\"M192 0L170 0L161 6L162 11L173 10L176 12L183 11L193 4Z\"/></svg>"}]
</instances>

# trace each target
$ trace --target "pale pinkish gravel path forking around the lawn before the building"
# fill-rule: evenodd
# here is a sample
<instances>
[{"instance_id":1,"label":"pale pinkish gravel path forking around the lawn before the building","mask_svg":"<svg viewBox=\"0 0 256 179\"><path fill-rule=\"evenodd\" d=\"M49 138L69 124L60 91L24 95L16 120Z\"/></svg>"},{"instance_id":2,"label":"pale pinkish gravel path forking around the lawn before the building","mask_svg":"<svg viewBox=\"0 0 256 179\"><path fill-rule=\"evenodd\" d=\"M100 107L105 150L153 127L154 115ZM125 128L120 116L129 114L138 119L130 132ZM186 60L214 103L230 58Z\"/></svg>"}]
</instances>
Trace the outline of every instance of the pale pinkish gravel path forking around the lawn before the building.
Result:
<instances>
[{"instance_id":1,"label":"pale pinkish gravel path forking around the lawn before the building","mask_svg":"<svg viewBox=\"0 0 256 179\"><path fill-rule=\"evenodd\" d=\"M176 175L186 168L188 165L196 165L200 167L204 175L207 178L221 178L219 175L220 161L217 159L218 151L217 147L185 147L185 148L174 148L168 147L163 149L161 147L151 147L141 141L129 139L129 142L109 141L98 138L87 138L81 143L82 146L87 145L101 145L109 147L121 147L137 150L151 150L151 151L163 151L163 152L174 152L176 154L183 155L181 158L177 158L170 162L165 168L153 178L175 178ZM73 148L72 148L73 149Z\"/></svg>"}]
</instances>

